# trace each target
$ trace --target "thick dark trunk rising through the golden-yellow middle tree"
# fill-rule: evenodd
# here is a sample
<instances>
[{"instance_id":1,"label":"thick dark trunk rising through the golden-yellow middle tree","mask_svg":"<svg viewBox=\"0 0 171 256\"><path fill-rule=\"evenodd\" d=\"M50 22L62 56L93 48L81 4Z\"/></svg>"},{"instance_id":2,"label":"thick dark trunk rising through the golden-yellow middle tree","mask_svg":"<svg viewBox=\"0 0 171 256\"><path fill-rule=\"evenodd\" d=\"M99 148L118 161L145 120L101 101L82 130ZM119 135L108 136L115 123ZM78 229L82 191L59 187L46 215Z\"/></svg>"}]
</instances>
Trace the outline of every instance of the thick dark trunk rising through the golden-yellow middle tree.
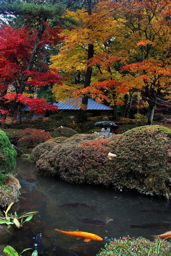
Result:
<instances>
[{"instance_id":1,"label":"thick dark trunk rising through the golden-yellow middle tree","mask_svg":"<svg viewBox=\"0 0 171 256\"><path fill-rule=\"evenodd\" d=\"M86 4L87 4L88 15L91 15L92 14L92 0L86 0ZM88 61L89 61L89 59L91 59L93 57L93 55L94 55L94 45L92 43L92 44L88 45ZM89 64L88 61L87 61L87 64ZM86 70L84 88L90 86L92 70L93 70L92 67L88 67L87 70ZM82 98L82 103L81 103L80 109L86 111L87 110L87 104L88 104L88 96L84 96Z\"/></svg>"}]
</instances>

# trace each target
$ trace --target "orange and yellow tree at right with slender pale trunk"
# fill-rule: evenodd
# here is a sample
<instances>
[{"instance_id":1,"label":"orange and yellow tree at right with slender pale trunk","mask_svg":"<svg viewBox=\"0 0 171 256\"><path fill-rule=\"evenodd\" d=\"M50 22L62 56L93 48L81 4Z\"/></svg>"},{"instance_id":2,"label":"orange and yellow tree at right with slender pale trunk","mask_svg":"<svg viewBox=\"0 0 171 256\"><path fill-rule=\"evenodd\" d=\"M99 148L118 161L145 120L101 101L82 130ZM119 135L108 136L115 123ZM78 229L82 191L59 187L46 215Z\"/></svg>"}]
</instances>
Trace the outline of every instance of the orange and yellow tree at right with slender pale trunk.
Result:
<instances>
[{"instance_id":1,"label":"orange and yellow tree at right with slender pale trunk","mask_svg":"<svg viewBox=\"0 0 171 256\"><path fill-rule=\"evenodd\" d=\"M123 33L120 71L143 82L139 90L149 104L148 124L152 124L156 104L170 88L169 1L111 2L109 12Z\"/></svg>"}]
</instances>

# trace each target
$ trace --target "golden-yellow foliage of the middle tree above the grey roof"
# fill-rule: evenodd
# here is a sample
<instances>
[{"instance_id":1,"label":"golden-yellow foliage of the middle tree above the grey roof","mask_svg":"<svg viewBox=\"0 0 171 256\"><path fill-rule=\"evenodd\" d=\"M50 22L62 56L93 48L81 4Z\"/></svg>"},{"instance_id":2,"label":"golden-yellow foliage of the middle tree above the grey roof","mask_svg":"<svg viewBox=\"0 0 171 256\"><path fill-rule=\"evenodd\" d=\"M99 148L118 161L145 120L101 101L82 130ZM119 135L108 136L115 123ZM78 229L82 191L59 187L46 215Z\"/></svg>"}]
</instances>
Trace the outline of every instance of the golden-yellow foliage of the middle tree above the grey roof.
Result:
<instances>
[{"instance_id":1,"label":"golden-yellow foliage of the middle tree above the grey roof","mask_svg":"<svg viewBox=\"0 0 171 256\"><path fill-rule=\"evenodd\" d=\"M108 50L111 50L110 46L108 47L107 45L112 42L110 39L113 37L113 29L115 26L114 22L110 22L110 24L105 23L104 10L99 14L98 10L96 11L95 8L92 10L91 15L88 15L84 9L77 10L77 12L67 11L66 13L66 18L72 17L77 25L71 30L65 30L63 32L65 34L65 42L60 48L59 54L51 57L51 67L60 69L62 76L66 77L65 85L63 84L62 86L63 91L66 91L67 97L73 95L72 91L76 98L78 98L79 95L80 97L82 96L88 99L88 96L95 96L95 94L98 100L100 100L100 97L103 97L102 91L97 88L95 93L95 86L93 86L91 81L111 78L110 68L107 67L108 70L105 70L105 68L102 70L98 63L101 59L100 55L105 58L104 55L106 54L107 59ZM103 22L99 22L98 17L100 16ZM93 55L87 59L88 49L92 46ZM109 54L109 56L114 58L112 53ZM87 76L87 74L90 76ZM75 79L78 78L78 76L79 79ZM117 73L117 76L120 77L121 75ZM88 83L86 77L89 80ZM75 80L79 81L79 84L76 84ZM63 93L61 89L61 86L60 88L59 86L53 87L53 93L57 100L60 100L60 97L62 98ZM60 95L59 91L61 91ZM99 97L97 97L97 94Z\"/></svg>"}]
</instances>

